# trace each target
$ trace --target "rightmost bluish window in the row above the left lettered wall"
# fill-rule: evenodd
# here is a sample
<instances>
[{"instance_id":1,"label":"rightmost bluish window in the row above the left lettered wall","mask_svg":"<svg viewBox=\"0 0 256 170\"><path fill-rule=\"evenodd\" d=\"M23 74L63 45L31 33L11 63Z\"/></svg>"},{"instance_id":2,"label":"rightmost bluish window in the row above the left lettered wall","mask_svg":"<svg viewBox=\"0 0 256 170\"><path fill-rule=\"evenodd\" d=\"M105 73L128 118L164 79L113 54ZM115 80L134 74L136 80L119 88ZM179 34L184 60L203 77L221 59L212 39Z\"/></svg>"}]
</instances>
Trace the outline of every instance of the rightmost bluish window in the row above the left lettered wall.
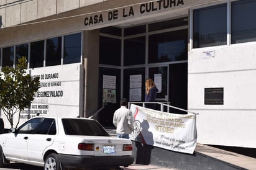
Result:
<instances>
[{"instance_id":1,"label":"rightmost bluish window in the row above the left lettered wall","mask_svg":"<svg viewBox=\"0 0 256 170\"><path fill-rule=\"evenodd\" d=\"M64 36L64 65L81 62L81 33Z\"/></svg>"}]
</instances>

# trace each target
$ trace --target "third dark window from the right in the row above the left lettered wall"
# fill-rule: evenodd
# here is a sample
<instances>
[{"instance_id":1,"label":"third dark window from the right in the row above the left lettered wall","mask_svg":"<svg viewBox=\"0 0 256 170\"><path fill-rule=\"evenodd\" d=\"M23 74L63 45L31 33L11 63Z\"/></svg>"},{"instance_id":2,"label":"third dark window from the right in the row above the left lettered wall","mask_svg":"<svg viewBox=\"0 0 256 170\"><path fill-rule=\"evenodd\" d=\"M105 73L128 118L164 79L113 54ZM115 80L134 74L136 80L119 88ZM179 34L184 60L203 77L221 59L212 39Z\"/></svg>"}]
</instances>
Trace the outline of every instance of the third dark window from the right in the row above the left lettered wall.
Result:
<instances>
[{"instance_id":1,"label":"third dark window from the right in the row above the left lettered wall","mask_svg":"<svg viewBox=\"0 0 256 170\"><path fill-rule=\"evenodd\" d=\"M43 66L44 40L30 43L30 68Z\"/></svg>"}]
</instances>

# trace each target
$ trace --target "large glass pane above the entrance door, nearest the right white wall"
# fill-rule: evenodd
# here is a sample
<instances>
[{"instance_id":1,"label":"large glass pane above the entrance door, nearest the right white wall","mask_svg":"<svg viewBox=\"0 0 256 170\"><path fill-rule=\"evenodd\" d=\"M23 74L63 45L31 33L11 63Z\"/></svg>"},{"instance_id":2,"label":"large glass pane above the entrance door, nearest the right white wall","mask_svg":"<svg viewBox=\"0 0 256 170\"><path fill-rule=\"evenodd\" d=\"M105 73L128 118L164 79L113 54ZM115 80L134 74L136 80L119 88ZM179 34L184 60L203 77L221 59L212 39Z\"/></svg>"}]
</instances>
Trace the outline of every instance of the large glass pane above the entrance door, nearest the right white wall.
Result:
<instances>
[{"instance_id":1,"label":"large glass pane above the entrance door, nearest the right white wall","mask_svg":"<svg viewBox=\"0 0 256 170\"><path fill-rule=\"evenodd\" d=\"M149 63L188 60L188 30L149 36Z\"/></svg>"}]
</instances>

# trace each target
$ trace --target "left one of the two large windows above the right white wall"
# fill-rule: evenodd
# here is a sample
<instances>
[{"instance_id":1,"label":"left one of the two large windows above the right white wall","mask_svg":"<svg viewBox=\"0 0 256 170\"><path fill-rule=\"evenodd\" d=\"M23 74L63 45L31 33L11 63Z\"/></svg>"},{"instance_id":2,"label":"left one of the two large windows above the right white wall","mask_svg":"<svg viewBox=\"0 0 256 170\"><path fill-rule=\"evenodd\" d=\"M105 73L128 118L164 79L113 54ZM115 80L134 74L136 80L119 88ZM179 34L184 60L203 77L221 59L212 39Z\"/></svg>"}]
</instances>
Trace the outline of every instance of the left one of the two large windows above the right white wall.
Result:
<instances>
[{"instance_id":1,"label":"left one of the two large windows above the right white wall","mask_svg":"<svg viewBox=\"0 0 256 170\"><path fill-rule=\"evenodd\" d=\"M193 17L193 48L227 44L227 4L196 9Z\"/></svg>"}]
</instances>

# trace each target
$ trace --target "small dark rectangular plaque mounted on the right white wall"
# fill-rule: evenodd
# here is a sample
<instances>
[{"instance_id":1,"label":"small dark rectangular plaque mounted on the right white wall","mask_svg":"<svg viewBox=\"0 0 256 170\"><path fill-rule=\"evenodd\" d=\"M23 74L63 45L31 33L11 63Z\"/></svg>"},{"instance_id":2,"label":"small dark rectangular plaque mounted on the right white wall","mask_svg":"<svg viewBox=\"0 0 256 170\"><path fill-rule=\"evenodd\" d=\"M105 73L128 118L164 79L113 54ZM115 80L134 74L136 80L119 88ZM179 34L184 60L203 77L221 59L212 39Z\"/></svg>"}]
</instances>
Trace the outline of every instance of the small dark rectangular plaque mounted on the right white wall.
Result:
<instances>
[{"instance_id":1,"label":"small dark rectangular plaque mounted on the right white wall","mask_svg":"<svg viewBox=\"0 0 256 170\"><path fill-rule=\"evenodd\" d=\"M223 105L224 88L204 88L204 104L206 105Z\"/></svg>"}]
</instances>

